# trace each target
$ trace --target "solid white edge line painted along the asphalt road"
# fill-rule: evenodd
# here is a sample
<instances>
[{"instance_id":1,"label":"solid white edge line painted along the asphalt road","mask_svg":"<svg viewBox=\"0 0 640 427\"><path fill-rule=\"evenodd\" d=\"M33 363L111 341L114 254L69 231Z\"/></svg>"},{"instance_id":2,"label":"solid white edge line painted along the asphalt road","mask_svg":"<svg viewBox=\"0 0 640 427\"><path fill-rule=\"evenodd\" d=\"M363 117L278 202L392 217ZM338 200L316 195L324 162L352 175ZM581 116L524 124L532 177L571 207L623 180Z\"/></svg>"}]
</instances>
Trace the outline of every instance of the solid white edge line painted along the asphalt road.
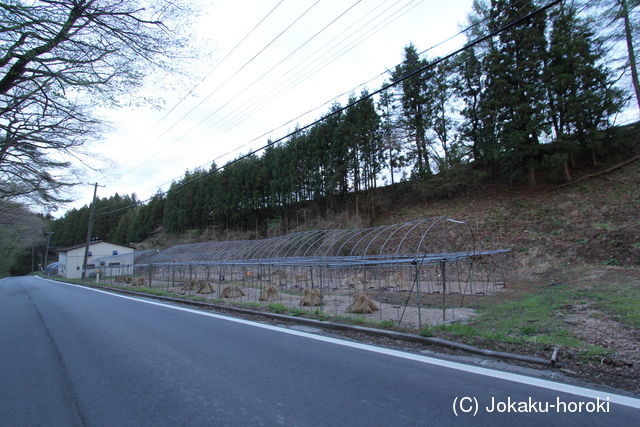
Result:
<instances>
[{"instance_id":1,"label":"solid white edge line painted along the asphalt road","mask_svg":"<svg viewBox=\"0 0 640 427\"><path fill-rule=\"evenodd\" d=\"M48 280L48 279L42 279L42 280ZM70 284L70 283L57 282L57 281L52 281L52 282L61 283L61 284L64 284L64 285L69 285L69 286L75 286L75 287L78 287L78 288L87 289L87 290L91 290L91 291L95 291L95 292L100 292L100 293L104 293L104 294L115 296L115 297L119 297L119 298L124 298L124 299L133 300L133 301L143 302L143 303L146 303L146 304L157 305L157 306L160 306L160 307L170 308L170 309L174 309L174 310L186 311L186 312L198 314L198 315L201 315L201 316L208 316L208 317L213 317L213 318L216 318L216 319L226 320L226 321L229 321L229 322L241 323L241 324L244 324L244 325L250 325L250 326L254 326L254 327L258 327L258 328L268 329L268 330L272 330L272 331L278 331L278 332L285 333L285 334L296 335L296 336L299 336L299 337L305 337L305 338L313 339L313 340L316 340L316 341L323 341L323 342L327 342L327 343L342 345L342 346L345 346L345 347L351 347L351 348L357 348L357 349L360 349L360 350L370 351L370 352L373 352L373 353L380 353L380 354L385 354L385 355L388 355L388 356L399 357L399 358L402 358L402 359L413 360L413 361L416 361L416 362L426 363L426 364L429 364L429 365L441 366L443 368L456 369L458 371L469 372L469 373L472 373L472 374L483 375L483 376L486 376L486 377L497 378L497 379L501 379L501 380L511 381L511 382L514 382L514 383L531 385L531 386L534 386L534 387L544 388L544 389L548 389L548 390L554 390L554 391L558 391L558 392L561 392L561 393L573 394L575 396L586 397L586 398L589 398L589 399L600 398L600 400L603 401L603 400L607 400L607 398L608 398L608 401L611 402L612 404L623 405L623 406L628 406L628 407L631 407L631 408L640 409L640 399L636 399L636 398L633 398L633 397L622 396L622 395L619 395L619 394L613 394L613 393L608 393L608 392L599 391L599 390L592 390L592 389L588 389L588 388L584 388L584 387L574 386L574 385L570 385L570 384L558 383L558 382L544 380L544 379L535 378L535 377L528 377L528 376L520 375L520 374L513 374L513 373L510 373L510 372L495 371L495 370L488 369L488 368L482 368L482 367L472 366L472 365L465 365L465 364L462 364L462 363L451 362L451 361L448 361L448 360L436 359L436 358L429 357L429 356L406 353L406 352L399 351L399 350L392 350L392 349L388 349L388 348L376 347L376 346L372 346L372 345L368 345L368 344L362 344L362 343L358 343L358 342L345 341L345 340L341 340L341 339L338 339L338 338L331 338L331 337L325 337L325 336L321 336L321 335L315 335L315 334L311 334L311 333L308 333L308 332L302 332L302 331L296 331L296 330L293 330L293 329L283 328L283 327L280 327L280 326L273 326L273 325L269 325L269 324L253 322L253 321L250 321L250 320L244 320L244 319L239 319L239 318L235 318L235 317L223 316L223 315L220 315L220 314L208 313L206 311L195 310L195 309L185 308L185 307L178 307L178 306L174 306L174 305L168 305L168 304L165 304L165 303L162 303L162 302L158 302L158 301L150 301L150 300L140 299L140 298L137 298L137 297L130 297L130 296L126 296L126 295L121 295L121 294L117 294L117 293L111 293L111 292L103 291L103 290L100 290L100 289L87 288L87 287L80 286L80 285L73 285L73 284Z\"/></svg>"}]
</instances>

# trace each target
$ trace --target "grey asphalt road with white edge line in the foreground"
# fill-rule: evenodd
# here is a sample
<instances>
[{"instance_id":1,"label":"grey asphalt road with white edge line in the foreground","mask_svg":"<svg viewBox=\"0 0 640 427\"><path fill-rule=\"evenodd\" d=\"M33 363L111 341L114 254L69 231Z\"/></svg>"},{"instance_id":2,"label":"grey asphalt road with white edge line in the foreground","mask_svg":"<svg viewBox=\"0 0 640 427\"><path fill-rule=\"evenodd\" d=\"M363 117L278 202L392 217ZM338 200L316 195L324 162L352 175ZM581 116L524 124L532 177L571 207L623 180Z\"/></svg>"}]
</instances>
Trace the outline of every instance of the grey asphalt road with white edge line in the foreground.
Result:
<instances>
[{"instance_id":1,"label":"grey asphalt road with white edge line in the foreground","mask_svg":"<svg viewBox=\"0 0 640 427\"><path fill-rule=\"evenodd\" d=\"M0 328L3 426L640 420L611 393L34 277L0 281Z\"/></svg>"}]
</instances>

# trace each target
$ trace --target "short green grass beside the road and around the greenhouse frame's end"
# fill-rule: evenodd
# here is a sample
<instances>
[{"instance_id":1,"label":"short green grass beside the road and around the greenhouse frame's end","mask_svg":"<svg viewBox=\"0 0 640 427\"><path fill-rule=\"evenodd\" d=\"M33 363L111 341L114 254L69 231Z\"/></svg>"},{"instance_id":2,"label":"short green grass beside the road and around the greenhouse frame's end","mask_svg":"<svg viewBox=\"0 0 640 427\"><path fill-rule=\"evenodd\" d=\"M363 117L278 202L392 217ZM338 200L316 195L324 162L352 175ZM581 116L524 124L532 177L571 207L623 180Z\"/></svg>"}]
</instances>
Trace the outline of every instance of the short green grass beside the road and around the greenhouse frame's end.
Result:
<instances>
[{"instance_id":1,"label":"short green grass beside the road and around the greenhouse frame's end","mask_svg":"<svg viewBox=\"0 0 640 427\"><path fill-rule=\"evenodd\" d=\"M609 274L609 273L607 273ZM583 279L588 277L588 279ZM609 279L609 276L602 276ZM586 342L578 331L575 316L590 316L594 319L614 320L628 328L640 328L640 287L628 279L602 277L574 270L553 282L540 284L537 288L520 291L521 294L498 295L478 301L479 316L466 323L444 323L428 325L418 333L421 336L440 336L465 342L470 345L507 344L517 351L518 346L546 348L563 346L576 350L578 357L589 360L603 357L615 349L603 348ZM624 280L627 280L626 282ZM210 303L228 303L223 299L206 300L204 297L176 295L149 287L131 288L112 286L158 296L171 296ZM324 312L321 308L288 307L279 302L235 303L247 308L267 308L272 313L286 314L318 320L364 325L374 328L393 328L390 320L373 321L366 316L339 316ZM567 322L573 316L572 322ZM513 347L511 347L513 346Z\"/></svg>"}]
</instances>

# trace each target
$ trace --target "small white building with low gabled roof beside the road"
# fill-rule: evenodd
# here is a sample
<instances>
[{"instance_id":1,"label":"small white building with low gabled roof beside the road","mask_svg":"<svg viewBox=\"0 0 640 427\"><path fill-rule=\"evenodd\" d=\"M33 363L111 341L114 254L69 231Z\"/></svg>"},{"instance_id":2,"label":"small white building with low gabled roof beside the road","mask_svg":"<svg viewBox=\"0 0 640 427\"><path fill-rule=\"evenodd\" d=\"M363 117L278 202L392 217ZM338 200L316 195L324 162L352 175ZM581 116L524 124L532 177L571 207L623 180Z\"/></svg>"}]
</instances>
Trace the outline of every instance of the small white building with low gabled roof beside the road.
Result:
<instances>
[{"instance_id":1,"label":"small white building with low gabled roof beside the road","mask_svg":"<svg viewBox=\"0 0 640 427\"><path fill-rule=\"evenodd\" d=\"M82 264L84 262L86 246L86 243L83 243L58 251L58 262L60 263L58 265L58 272L60 276L66 277L67 279L80 279L82 277ZM133 265L133 248L130 246L96 240L89 245L88 255L86 277L95 277L98 272L100 272L101 276L122 274L118 272L118 266ZM114 261L98 259L115 255L120 256Z\"/></svg>"}]
</instances>

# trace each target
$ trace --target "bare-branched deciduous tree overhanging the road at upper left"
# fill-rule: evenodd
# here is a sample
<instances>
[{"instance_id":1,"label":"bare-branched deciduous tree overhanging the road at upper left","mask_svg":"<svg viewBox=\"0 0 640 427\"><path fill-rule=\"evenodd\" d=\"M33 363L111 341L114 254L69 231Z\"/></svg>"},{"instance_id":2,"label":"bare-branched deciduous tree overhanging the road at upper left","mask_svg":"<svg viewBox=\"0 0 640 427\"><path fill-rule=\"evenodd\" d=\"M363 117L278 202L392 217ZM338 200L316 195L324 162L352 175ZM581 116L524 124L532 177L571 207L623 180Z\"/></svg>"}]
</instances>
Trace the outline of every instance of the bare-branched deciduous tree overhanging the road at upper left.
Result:
<instances>
[{"instance_id":1,"label":"bare-branched deciduous tree overhanging the road at upper left","mask_svg":"<svg viewBox=\"0 0 640 427\"><path fill-rule=\"evenodd\" d=\"M150 101L145 77L195 57L179 31L191 13L180 0L0 2L0 200L59 202L102 129L95 107Z\"/></svg>"}]
</instances>

